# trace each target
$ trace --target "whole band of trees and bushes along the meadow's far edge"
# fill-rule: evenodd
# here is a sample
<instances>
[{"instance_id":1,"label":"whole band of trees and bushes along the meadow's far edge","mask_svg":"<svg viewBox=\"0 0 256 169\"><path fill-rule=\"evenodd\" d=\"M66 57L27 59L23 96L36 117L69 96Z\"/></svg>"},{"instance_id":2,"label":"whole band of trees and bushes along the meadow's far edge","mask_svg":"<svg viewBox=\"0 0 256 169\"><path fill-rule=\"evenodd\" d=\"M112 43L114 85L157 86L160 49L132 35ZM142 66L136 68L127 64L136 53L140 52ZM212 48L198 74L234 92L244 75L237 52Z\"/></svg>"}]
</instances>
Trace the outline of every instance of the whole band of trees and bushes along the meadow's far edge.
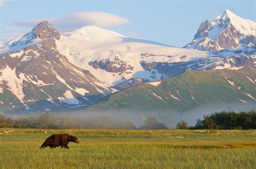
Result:
<instances>
[{"instance_id":1,"label":"whole band of trees and bushes along the meadow's far edge","mask_svg":"<svg viewBox=\"0 0 256 169\"><path fill-rule=\"evenodd\" d=\"M45 114L38 116L24 116L18 118L0 115L0 128L36 128L36 129L168 129L156 116L149 115L144 124L137 127L130 121L112 119L109 116L73 116L72 114ZM256 111L234 112L221 111L205 115L204 119L197 119L194 126L187 126L181 121L176 129L256 129Z\"/></svg>"}]
</instances>

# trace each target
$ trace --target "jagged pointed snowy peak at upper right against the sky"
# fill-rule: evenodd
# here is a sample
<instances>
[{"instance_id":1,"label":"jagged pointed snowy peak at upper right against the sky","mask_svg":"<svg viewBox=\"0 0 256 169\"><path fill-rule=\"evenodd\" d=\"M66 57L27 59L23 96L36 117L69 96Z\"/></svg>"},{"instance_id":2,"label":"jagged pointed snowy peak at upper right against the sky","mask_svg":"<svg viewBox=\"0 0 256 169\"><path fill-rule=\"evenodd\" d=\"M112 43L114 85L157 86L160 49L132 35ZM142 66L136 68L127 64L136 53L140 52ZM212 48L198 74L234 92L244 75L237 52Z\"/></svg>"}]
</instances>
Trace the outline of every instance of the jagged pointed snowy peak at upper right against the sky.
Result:
<instances>
[{"instance_id":1,"label":"jagged pointed snowy peak at upper right against the sky","mask_svg":"<svg viewBox=\"0 0 256 169\"><path fill-rule=\"evenodd\" d=\"M184 48L212 52L232 47L254 47L255 31L255 22L226 10L214 20L201 23L194 39Z\"/></svg>"}]
</instances>

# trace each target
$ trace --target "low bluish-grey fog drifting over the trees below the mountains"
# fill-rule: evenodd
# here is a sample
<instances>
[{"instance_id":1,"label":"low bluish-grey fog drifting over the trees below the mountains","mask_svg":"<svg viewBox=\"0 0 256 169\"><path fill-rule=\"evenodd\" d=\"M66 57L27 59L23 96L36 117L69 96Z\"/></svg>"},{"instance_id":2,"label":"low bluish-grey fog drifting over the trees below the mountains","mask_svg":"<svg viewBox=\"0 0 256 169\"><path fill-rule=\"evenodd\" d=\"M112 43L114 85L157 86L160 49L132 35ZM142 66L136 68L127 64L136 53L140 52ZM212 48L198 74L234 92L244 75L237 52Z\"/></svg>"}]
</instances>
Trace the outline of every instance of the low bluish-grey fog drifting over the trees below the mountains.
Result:
<instances>
[{"instance_id":1,"label":"low bluish-grey fog drifting over the trees below the mountains","mask_svg":"<svg viewBox=\"0 0 256 169\"><path fill-rule=\"evenodd\" d=\"M188 126L196 124L198 118L203 119L204 115L212 114L220 111L251 111L256 110L255 103L230 103L230 104L206 104L194 108L190 111L173 112L170 110L156 110L156 111L143 111L143 110L111 110L111 111L88 111L78 110L76 112L61 112L59 115L66 116L65 125L81 125L87 128L120 128L129 129L136 128L144 124L145 118L149 115L154 115L158 121L164 123L169 129L176 127L177 122L186 121ZM58 114L58 113L52 113ZM30 116L42 116L44 113L34 113ZM5 115L11 118L19 118L28 115ZM57 117L56 117L57 118Z\"/></svg>"}]
</instances>

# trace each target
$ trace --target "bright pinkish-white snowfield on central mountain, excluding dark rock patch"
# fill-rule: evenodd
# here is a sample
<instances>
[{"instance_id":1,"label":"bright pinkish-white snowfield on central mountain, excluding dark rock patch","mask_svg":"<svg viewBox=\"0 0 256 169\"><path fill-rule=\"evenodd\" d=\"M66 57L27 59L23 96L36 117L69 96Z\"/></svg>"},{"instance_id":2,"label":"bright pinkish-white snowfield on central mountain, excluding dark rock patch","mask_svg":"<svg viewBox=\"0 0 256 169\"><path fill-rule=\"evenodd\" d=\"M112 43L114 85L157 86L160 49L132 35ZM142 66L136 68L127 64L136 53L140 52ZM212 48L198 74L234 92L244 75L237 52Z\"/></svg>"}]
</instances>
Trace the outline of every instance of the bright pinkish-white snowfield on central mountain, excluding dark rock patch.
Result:
<instances>
[{"instance_id":1,"label":"bright pinkish-white snowfield on central mountain, excluding dark rock patch","mask_svg":"<svg viewBox=\"0 0 256 169\"><path fill-rule=\"evenodd\" d=\"M89 27L89 29L85 29L85 27L83 27L82 30L78 29L70 32L68 37L61 36L60 40L56 40L57 48L58 51L65 55L72 64L90 71L97 79L104 82L104 87L117 85L118 83L125 81L125 79L127 80L130 78L147 78L150 81L157 81L160 80L162 75L165 76L164 74L158 73L152 75L150 71L145 71L140 65L141 61L171 63L211 56L211 54L207 54L207 52L204 51L187 50L146 43L122 42L117 40L117 37L122 37L122 35L113 33L112 31L103 31L103 29L99 29L100 33L106 34L99 36L99 39L97 39L96 35L87 31L92 27ZM96 29L96 27L93 26L93 29ZM80 34L77 35L77 32L80 32ZM113 39L105 41L104 37L112 37ZM152 56L143 57L142 54L152 54ZM107 72L104 69L93 68L89 65L89 62L108 59L114 60L116 58L126 62L127 65L132 66L133 70L130 71L131 73L120 74ZM154 76L154 78L152 79L150 76Z\"/></svg>"}]
</instances>

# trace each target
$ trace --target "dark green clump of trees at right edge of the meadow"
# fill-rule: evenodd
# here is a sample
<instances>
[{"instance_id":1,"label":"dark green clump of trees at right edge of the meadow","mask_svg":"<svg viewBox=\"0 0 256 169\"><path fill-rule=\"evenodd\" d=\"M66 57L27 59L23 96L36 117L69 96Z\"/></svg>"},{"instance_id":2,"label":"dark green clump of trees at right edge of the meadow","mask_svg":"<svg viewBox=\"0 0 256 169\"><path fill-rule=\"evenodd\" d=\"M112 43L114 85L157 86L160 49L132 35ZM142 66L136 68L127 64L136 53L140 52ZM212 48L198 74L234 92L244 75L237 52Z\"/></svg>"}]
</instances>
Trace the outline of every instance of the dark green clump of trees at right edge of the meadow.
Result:
<instances>
[{"instance_id":1,"label":"dark green clump of trees at right edge of the meadow","mask_svg":"<svg viewBox=\"0 0 256 169\"><path fill-rule=\"evenodd\" d=\"M185 121L178 122L177 129L218 129L218 130L247 130L256 129L256 111L234 112L221 111L211 115L204 115L204 119L197 119L194 126L187 126Z\"/></svg>"}]
</instances>

